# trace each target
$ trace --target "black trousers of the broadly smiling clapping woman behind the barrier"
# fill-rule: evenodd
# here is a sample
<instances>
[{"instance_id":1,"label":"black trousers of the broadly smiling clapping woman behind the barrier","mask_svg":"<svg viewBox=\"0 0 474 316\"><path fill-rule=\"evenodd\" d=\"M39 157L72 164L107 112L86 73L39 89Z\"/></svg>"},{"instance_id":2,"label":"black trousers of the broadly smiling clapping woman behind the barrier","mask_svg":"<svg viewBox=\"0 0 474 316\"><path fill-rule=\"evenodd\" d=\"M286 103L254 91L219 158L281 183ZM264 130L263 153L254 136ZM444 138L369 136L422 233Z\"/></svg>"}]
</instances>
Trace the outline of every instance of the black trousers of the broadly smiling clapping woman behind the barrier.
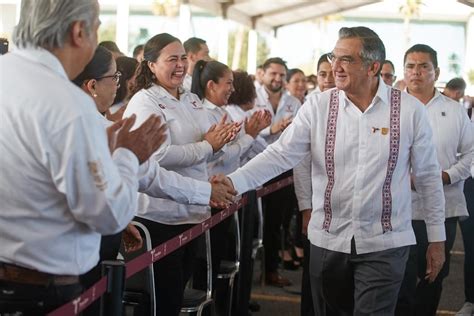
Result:
<instances>
[{"instance_id":1,"label":"black trousers of the broadly smiling clapping woman behind the barrier","mask_svg":"<svg viewBox=\"0 0 474 316\"><path fill-rule=\"evenodd\" d=\"M137 217L150 231L152 247L181 234L193 227L166 225ZM183 304L184 288L193 273L196 258L196 239L168 254L153 264L155 280L156 314L178 316Z\"/></svg>"}]
</instances>

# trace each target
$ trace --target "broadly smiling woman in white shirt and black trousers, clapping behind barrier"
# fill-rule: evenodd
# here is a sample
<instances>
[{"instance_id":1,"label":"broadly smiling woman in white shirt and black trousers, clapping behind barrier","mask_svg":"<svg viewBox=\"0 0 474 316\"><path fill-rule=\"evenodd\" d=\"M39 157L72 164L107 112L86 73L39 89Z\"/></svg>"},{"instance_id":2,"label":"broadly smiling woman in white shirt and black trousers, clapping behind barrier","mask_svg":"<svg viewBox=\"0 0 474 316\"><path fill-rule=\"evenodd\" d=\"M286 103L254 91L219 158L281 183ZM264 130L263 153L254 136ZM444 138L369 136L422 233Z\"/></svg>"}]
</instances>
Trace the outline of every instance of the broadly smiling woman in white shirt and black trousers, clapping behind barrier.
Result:
<instances>
[{"instance_id":1,"label":"broadly smiling woman in white shirt and black trousers, clapping behind barrier","mask_svg":"<svg viewBox=\"0 0 474 316\"><path fill-rule=\"evenodd\" d=\"M210 124L199 98L181 87L187 67L186 53L177 38L167 33L152 37L144 46L144 60L124 116L136 114L138 124L150 114L162 117L168 125L168 138L152 159L183 176L207 181L207 162L222 154L222 148L234 136L235 126ZM209 196L211 185L192 190L195 196ZM231 198L229 194L229 201ZM209 216L208 206L142 195L137 220L148 227L152 246L156 247ZM195 254L194 240L153 264L157 315L179 315Z\"/></svg>"}]
</instances>

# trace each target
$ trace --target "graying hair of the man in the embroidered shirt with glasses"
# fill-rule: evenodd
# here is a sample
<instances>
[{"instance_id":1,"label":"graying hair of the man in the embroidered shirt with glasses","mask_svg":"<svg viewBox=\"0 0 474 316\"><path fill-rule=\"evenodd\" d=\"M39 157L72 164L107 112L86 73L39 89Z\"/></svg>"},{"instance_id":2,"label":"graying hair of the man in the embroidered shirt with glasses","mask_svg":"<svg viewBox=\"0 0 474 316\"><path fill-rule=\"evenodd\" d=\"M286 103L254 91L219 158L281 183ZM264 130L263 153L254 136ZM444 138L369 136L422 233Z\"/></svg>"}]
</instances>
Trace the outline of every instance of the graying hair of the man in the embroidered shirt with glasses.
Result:
<instances>
[{"instance_id":1,"label":"graying hair of the man in the embroidered shirt with glasses","mask_svg":"<svg viewBox=\"0 0 474 316\"><path fill-rule=\"evenodd\" d=\"M365 65L377 61L380 62L380 66L385 61L385 45L383 44L380 37L364 26L357 27L343 27L339 30L339 39L343 38L358 38L362 43L362 51L360 52L360 58ZM380 67L377 75L380 74L382 67Z\"/></svg>"}]
</instances>

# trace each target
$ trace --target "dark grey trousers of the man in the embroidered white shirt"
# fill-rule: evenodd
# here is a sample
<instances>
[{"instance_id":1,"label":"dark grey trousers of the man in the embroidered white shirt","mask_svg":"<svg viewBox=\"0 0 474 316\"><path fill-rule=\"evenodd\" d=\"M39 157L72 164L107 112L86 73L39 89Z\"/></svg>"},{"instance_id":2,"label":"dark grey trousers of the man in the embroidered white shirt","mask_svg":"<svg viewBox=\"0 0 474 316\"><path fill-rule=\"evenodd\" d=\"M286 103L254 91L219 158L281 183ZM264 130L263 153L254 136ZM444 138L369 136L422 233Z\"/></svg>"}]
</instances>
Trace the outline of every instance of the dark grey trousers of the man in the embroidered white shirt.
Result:
<instances>
[{"instance_id":1,"label":"dark grey trousers of the man in the embroidered white shirt","mask_svg":"<svg viewBox=\"0 0 474 316\"><path fill-rule=\"evenodd\" d=\"M351 254L311 245L314 312L329 315L393 315L409 247Z\"/></svg>"}]
</instances>

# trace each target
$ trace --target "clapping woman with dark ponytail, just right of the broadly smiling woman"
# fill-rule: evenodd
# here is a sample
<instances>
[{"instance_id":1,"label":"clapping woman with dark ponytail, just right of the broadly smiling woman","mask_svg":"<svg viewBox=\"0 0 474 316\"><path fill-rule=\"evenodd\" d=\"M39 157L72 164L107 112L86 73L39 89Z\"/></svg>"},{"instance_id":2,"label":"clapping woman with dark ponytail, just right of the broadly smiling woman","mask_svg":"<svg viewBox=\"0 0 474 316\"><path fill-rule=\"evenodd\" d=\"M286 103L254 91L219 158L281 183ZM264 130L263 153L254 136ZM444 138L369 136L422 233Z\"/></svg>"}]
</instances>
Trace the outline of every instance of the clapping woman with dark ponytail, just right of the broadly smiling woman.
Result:
<instances>
[{"instance_id":1,"label":"clapping woman with dark ponytail, just right of the broadly smiling woman","mask_svg":"<svg viewBox=\"0 0 474 316\"><path fill-rule=\"evenodd\" d=\"M191 92L197 94L202 99L203 105L211 123L217 124L223 120L231 122L225 105L227 105L230 95L234 92L233 73L228 66L218 61L200 60L196 63L193 72ZM243 124L243 129L237 135L236 139L227 145L226 152L218 159L208 163L209 175L229 174L240 166L240 157L244 155L252 146L258 133L269 126L271 115L265 112L256 112L249 119L239 124ZM214 214L218 210L212 209ZM232 218L211 228L211 254L213 283L217 280L222 255L226 253L226 244L229 225ZM197 271L199 283L205 283L205 269L200 268ZM201 285L203 287L203 285Z\"/></svg>"}]
</instances>

